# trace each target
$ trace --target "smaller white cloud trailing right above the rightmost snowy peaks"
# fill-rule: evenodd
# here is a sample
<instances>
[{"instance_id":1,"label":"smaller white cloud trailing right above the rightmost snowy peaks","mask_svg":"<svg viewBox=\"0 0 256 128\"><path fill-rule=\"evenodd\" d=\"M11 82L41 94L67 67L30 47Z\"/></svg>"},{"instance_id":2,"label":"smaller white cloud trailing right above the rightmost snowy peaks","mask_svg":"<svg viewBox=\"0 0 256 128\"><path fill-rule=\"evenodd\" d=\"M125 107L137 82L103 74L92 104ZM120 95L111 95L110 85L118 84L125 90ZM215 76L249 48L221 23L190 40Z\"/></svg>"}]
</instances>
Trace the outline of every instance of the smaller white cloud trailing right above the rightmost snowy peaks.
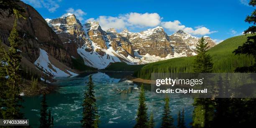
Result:
<instances>
[{"instance_id":1,"label":"smaller white cloud trailing right above the rightmost snowy peaks","mask_svg":"<svg viewBox=\"0 0 256 128\"><path fill-rule=\"evenodd\" d=\"M168 22L162 22L161 25L168 29L169 31L178 31L178 30L183 30L184 32L187 32L189 34L192 35L206 35L206 34L211 34L211 33L215 33L217 31L210 31L210 29L203 27L203 26L196 26L196 29L190 28L190 27L186 27L184 25L182 25L179 20L174 20L172 21L168 21Z\"/></svg>"}]
</instances>

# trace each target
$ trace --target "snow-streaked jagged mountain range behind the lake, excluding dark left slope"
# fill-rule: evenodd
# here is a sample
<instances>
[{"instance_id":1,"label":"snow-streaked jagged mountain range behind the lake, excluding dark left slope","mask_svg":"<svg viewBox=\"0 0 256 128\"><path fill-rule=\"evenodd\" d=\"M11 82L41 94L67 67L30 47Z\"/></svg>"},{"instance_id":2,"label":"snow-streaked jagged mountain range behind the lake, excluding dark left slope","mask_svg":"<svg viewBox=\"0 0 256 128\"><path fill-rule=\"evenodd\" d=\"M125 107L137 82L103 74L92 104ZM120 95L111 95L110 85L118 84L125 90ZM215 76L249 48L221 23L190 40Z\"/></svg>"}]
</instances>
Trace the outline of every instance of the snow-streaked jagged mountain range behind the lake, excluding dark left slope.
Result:
<instances>
[{"instance_id":1,"label":"snow-streaked jagged mountain range behind the lake, excluding dark left slope","mask_svg":"<svg viewBox=\"0 0 256 128\"><path fill-rule=\"evenodd\" d=\"M82 56L84 63L104 69L110 63L147 64L182 56L193 56L199 38L182 30L168 36L160 26L133 33L125 28L102 30L96 21L82 25L76 16L67 13L60 18L46 19L73 57ZM205 36L210 47L215 43Z\"/></svg>"}]
</instances>

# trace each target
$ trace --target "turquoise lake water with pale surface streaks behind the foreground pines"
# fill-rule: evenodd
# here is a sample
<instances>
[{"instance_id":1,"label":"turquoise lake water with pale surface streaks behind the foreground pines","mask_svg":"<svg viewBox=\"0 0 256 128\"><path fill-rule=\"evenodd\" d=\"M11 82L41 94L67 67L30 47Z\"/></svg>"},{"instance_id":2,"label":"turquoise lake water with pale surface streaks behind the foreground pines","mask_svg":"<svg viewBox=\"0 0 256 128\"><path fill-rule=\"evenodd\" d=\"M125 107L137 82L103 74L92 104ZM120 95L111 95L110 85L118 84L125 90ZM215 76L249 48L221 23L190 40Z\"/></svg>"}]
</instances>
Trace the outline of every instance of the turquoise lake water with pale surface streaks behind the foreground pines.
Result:
<instances>
[{"instance_id":1,"label":"turquoise lake water with pale surface streaks behind the foreground pines","mask_svg":"<svg viewBox=\"0 0 256 128\"><path fill-rule=\"evenodd\" d=\"M54 115L54 128L80 128L82 119L82 101L89 75L95 84L100 128L133 128L136 123L140 86L127 79L129 72L94 72L73 78L56 78L59 89L46 95L46 102ZM146 86L146 85L145 85ZM146 87L145 87L146 88ZM33 128L39 126L40 102L42 96L23 97L22 112ZM170 97L170 108L174 125L177 113L184 108L186 125L192 122L193 99ZM156 128L161 126L164 98L146 88L148 115L153 111Z\"/></svg>"}]
</instances>

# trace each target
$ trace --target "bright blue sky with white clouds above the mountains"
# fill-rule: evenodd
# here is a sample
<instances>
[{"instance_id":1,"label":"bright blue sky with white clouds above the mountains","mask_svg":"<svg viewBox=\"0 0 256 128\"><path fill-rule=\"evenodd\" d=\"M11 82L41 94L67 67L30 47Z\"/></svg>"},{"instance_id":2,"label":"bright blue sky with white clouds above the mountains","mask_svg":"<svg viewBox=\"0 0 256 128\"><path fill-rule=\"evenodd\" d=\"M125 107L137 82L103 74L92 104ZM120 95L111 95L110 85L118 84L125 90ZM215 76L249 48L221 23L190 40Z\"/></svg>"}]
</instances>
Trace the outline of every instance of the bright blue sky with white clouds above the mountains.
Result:
<instances>
[{"instance_id":1,"label":"bright blue sky with white clouds above the mountains","mask_svg":"<svg viewBox=\"0 0 256 128\"><path fill-rule=\"evenodd\" d=\"M82 24L97 20L104 30L139 32L162 26L167 34L182 29L216 41L241 35L255 7L248 0L22 0L44 18L74 13Z\"/></svg>"}]
</instances>

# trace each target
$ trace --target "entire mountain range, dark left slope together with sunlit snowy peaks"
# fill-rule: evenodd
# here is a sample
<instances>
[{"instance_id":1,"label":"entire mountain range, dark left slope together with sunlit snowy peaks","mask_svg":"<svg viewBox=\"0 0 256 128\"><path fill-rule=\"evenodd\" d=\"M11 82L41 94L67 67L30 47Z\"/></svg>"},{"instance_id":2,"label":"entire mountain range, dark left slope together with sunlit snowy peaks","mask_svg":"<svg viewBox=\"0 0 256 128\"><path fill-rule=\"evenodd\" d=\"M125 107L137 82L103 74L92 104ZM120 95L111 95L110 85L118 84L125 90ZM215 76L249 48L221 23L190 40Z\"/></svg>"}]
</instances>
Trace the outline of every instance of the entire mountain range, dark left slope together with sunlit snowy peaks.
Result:
<instances>
[{"instance_id":1,"label":"entire mountain range, dark left slope together with sunlit snowy peaks","mask_svg":"<svg viewBox=\"0 0 256 128\"><path fill-rule=\"evenodd\" d=\"M104 69L110 63L147 64L182 56L196 55L195 45L200 38L179 30L167 35L160 26L139 33L114 28L102 30L96 21L80 23L74 14L56 19L44 19L33 7L19 3L26 10L26 19L18 20L23 66L51 76L74 76L72 59L82 58L84 64ZM14 16L1 10L0 36L8 48L8 36ZM204 36L210 47L215 42Z\"/></svg>"}]
</instances>

